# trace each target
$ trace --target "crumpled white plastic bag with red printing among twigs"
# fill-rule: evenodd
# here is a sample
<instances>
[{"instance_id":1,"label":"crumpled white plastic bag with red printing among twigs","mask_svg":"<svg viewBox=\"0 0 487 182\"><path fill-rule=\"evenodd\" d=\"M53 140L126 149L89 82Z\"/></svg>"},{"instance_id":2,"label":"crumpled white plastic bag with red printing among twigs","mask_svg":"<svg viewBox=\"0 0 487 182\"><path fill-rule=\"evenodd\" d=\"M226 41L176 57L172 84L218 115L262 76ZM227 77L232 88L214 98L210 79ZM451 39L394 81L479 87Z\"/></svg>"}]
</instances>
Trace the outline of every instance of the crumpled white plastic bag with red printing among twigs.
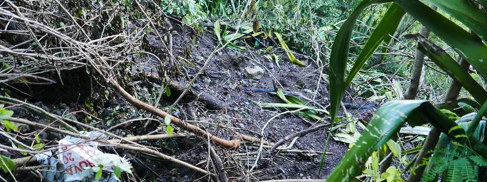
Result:
<instances>
[{"instance_id":1,"label":"crumpled white plastic bag with red printing among twigs","mask_svg":"<svg viewBox=\"0 0 487 182\"><path fill-rule=\"evenodd\" d=\"M80 133L90 138L102 134L98 131ZM113 173L115 167L130 172L130 162L124 157L101 152L98 150L98 142L67 136L59 141L59 146L61 148L55 157L51 151L35 155L41 165L51 166L50 169L42 171L44 179L48 182L119 182ZM88 168L99 165L103 166L103 175L101 179L95 180L95 172ZM110 172L109 175L107 172Z\"/></svg>"}]
</instances>

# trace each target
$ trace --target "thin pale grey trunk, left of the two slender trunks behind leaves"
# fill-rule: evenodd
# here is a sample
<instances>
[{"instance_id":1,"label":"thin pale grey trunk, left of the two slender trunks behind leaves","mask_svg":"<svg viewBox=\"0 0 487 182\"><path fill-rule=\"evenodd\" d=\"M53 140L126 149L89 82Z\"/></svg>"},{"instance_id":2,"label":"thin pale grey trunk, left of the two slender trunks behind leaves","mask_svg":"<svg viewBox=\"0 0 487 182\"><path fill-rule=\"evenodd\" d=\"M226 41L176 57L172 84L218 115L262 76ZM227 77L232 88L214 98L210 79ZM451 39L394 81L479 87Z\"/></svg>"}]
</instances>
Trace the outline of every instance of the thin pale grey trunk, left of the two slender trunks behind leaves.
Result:
<instances>
[{"instance_id":1,"label":"thin pale grey trunk, left of the two slender trunks behind leaves","mask_svg":"<svg viewBox=\"0 0 487 182\"><path fill-rule=\"evenodd\" d=\"M434 10L436 10L436 6L430 5L430 7ZM428 38L429 37L429 29L426 28L424 25L421 26L421 29L419 30L419 34L422 35L423 37ZM418 43L419 45L419 43ZM404 95L404 99L406 100L411 100L415 99L417 96L417 91L419 89L419 86L423 82L423 73L424 73L424 67L423 67L423 62L424 62L424 53L419 51L418 48L416 48L416 56L414 58L414 66L412 67L412 74L411 74L411 82L409 83L409 87L407 88L406 94ZM397 135L393 135L391 138L392 140L397 140ZM391 152L389 148L386 150L386 155ZM381 174L385 173L387 168L391 166L392 162L392 156L387 158L386 161L381 165Z\"/></svg>"}]
</instances>

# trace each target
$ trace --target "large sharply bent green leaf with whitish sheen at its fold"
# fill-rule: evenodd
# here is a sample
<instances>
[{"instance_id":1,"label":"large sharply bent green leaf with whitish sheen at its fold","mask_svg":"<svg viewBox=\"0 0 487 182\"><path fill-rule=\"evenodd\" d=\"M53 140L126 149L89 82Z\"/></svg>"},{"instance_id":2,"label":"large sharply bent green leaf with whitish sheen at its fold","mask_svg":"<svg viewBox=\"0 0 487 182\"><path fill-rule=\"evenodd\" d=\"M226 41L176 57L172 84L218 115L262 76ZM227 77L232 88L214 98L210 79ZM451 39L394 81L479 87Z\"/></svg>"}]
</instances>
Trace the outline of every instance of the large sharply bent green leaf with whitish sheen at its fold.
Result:
<instances>
[{"instance_id":1,"label":"large sharply bent green leaf with whitish sheen at its fold","mask_svg":"<svg viewBox=\"0 0 487 182\"><path fill-rule=\"evenodd\" d=\"M401 126L430 123L451 138L466 143L466 132L457 123L448 119L430 102L424 100L400 100L383 105L374 115L362 136L335 167L326 181L351 181L363 170L372 152L384 145ZM453 128L453 129L452 129ZM487 158L487 146L478 139L469 138L473 151ZM478 146L478 147L475 147Z\"/></svg>"}]
</instances>

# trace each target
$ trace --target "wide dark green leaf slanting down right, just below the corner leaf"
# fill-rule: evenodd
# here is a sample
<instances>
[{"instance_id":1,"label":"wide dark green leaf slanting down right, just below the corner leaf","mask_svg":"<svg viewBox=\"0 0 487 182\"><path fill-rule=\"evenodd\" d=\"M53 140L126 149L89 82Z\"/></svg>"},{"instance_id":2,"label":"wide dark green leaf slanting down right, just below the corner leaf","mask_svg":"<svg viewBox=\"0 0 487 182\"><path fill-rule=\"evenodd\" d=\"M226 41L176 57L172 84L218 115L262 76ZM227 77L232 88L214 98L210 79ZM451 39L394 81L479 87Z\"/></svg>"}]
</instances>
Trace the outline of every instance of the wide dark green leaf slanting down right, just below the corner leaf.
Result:
<instances>
[{"instance_id":1,"label":"wide dark green leaf slanting down right, just below the corner leaf","mask_svg":"<svg viewBox=\"0 0 487 182\"><path fill-rule=\"evenodd\" d=\"M396 0L396 3L470 62L484 79L487 78L487 45L479 37L418 0Z\"/></svg>"}]
</instances>

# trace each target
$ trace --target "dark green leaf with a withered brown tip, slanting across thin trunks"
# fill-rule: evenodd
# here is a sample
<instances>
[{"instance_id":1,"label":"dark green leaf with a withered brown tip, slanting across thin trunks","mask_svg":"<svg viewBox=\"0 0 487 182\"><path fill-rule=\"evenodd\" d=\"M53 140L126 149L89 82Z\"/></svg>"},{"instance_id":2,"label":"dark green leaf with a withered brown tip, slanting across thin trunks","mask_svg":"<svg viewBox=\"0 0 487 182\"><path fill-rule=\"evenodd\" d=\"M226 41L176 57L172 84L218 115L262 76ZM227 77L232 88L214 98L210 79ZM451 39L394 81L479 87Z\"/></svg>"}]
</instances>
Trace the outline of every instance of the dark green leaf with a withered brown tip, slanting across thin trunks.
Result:
<instances>
[{"instance_id":1,"label":"dark green leaf with a withered brown tip, slanting across thin trunks","mask_svg":"<svg viewBox=\"0 0 487 182\"><path fill-rule=\"evenodd\" d=\"M474 96L477 102L486 102L486 90L472 78L467 70L463 69L457 61L453 60L448 53L419 34L407 35L406 37L416 40L418 42L419 50L428 56L431 61L434 61L440 66L453 79L462 84L462 86ZM487 64L485 66L487 66Z\"/></svg>"}]
</instances>

